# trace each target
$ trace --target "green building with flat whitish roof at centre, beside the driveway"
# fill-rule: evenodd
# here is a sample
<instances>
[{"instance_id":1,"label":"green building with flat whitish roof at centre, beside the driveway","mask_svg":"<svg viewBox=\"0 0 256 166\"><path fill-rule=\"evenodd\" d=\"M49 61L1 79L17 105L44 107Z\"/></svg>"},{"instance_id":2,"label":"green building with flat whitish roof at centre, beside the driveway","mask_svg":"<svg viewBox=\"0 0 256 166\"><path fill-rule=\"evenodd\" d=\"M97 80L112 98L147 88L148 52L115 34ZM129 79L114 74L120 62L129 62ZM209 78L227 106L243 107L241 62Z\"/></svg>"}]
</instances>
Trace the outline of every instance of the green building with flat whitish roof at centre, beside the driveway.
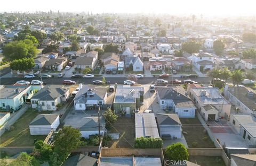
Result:
<instances>
[{"instance_id":1,"label":"green building with flat whitish roof at centre, beside the driveway","mask_svg":"<svg viewBox=\"0 0 256 166\"><path fill-rule=\"evenodd\" d=\"M140 108L143 102L144 88L140 86L120 85L116 88L114 97L114 111L116 113L126 112L131 115L133 111Z\"/></svg>"}]
</instances>

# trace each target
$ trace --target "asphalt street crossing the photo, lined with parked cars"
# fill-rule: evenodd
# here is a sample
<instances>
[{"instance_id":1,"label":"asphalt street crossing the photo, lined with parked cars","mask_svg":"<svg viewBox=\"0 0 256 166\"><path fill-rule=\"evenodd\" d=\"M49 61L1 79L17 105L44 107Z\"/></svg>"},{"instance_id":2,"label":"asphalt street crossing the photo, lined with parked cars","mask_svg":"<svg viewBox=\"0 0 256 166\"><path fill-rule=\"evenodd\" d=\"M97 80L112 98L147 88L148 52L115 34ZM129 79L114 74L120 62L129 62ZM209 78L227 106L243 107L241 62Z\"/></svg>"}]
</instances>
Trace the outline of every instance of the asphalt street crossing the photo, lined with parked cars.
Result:
<instances>
[{"instance_id":1,"label":"asphalt street crossing the photo, lined with parked cars","mask_svg":"<svg viewBox=\"0 0 256 166\"><path fill-rule=\"evenodd\" d=\"M154 84L158 78L157 77L145 77L145 78L138 78L137 83L138 84ZM161 78L162 79L162 78ZM187 80L187 78L173 78L173 80ZM31 82L32 80L40 80L40 78L34 78L34 79L26 79L26 78L1 78L0 84L1 85L12 85L15 84L17 81L20 80L27 80ZM102 77L94 77L94 78L43 78L42 79L44 83L46 84L62 84L63 80L72 80L75 81L77 84L92 84L95 80L102 80ZM123 84L124 81L127 80L126 77L106 77L106 81L110 81L110 84ZM164 80L171 81L172 78L164 78ZM191 78L191 80L197 81L199 84L210 84L210 78L209 77L198 77L198 78Z\"/></svg>"}]
</instances>

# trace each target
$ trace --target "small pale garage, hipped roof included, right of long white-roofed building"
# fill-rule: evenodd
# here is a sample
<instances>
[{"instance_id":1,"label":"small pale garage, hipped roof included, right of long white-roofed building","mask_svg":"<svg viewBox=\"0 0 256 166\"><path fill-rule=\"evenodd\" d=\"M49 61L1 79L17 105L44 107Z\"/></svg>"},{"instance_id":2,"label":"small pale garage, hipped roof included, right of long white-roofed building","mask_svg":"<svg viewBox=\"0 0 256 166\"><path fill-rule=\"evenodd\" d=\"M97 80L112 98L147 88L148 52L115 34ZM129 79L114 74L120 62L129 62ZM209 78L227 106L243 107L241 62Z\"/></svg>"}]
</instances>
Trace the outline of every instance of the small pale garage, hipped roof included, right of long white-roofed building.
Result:
<instances>
[{"instance_id":1,"label":"small pale garage, hipped roof included, right of long white-roofed building","mask_svg":"<svg viewBox=\"0 0 256 166\"><path fill-rule=\"evenodd\" d=\"M181 122L176 113L157 113L157 125L160 137L164 138L181 138Z\"/></svg>"}]
</instances>

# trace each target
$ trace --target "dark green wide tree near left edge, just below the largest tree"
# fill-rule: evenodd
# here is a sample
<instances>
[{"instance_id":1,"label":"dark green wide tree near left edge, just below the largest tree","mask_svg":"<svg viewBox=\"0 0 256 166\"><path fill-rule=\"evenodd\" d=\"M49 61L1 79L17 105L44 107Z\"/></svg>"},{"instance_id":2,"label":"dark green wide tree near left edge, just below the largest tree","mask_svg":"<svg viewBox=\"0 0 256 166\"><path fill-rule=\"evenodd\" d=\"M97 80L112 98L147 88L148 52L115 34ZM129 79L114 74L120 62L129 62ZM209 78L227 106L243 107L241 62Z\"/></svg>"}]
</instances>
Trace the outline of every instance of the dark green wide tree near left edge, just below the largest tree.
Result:
<instances>
[{"instance_id":1,"label":"dark green wide tree near left edge, just below the largest tree","mask_svg":"<svg viewBox=\"0 0 256 166\"><path fill-rule=\"evenodd\" d=\"M10 67L12 70L23 72L35 67L35 62L33 58L15 59L10 63Z\"/></svg>"}]
</instances>

